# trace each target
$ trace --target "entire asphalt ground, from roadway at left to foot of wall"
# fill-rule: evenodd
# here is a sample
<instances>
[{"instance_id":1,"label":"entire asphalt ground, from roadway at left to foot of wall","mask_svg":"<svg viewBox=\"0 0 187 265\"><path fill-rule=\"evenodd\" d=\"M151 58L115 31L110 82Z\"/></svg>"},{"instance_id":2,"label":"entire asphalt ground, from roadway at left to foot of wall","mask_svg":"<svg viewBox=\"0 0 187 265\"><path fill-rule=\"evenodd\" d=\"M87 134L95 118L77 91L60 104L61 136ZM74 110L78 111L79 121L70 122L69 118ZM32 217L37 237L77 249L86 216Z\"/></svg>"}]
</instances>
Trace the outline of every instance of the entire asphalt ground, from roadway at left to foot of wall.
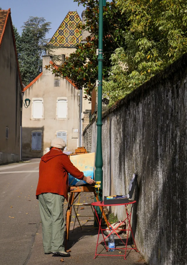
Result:
<instances>
[{"instance_id":1,"label":"entire asphalt ground, from roadway at left to foot of wall","mask_svg":"<svg viewBox=\"0 0 187 265\"><path fill-rule=\"evenodd\" d=\"M30 163L15 163L0 166L0 265L56 265L61 264L60 257L44 255L39 205L35 196L39 175L40 159L31 159ZM81 195L80 203L93 201L92 193ZM67 202L64 204L64 215ZM79 220L84 227L80 230L78 222L72 233L73 222L70 225L70 240L67 248L71 249L71 257L64 258L66 265L100 265L128 264L143 265L144 260L136 251L131 251L127 260L124 257L103 257L93 259L97 242L98 229L90 229L88 225L93 219L91 206L79 209ZM81 217L81 215L87 217ZM72 212L72 221L75 213ZM86 229L87 226L87 229ZM125 236L125 235L124 235ZM115 244L117 244L117 238ZM119 241L119 240L118 240ZM98 251L105 254L105 248L100 245ZM114 252L109 252L112 254ZM119 254L119 253L115 253ZM123 253L122 253L123 254Z\"/></svg>"}]
</instances>

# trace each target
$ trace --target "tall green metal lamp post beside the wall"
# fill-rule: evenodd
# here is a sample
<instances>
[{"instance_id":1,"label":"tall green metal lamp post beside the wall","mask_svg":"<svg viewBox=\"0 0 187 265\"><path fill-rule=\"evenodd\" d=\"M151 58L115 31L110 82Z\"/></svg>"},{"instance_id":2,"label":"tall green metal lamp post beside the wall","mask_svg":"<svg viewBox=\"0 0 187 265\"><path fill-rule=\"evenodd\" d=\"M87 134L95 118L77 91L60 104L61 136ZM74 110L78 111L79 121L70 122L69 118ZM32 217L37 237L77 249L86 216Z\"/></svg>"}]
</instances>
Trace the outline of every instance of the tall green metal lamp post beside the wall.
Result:
<instances>
[{"instance_id":1,"label":"tall green metal lamp post beside the wall","mask_svg":"<svg viewBox=\"0 0 187 265\"><path fill-rule=\"evenodd\" d=\"M103 6L106 0L99 0L99 46L98 46L98 111L97 111L97 148L95 161L95 180L101 181L99 200L103 198L103 154L102 154L102 79L103 79ZM101 211L98 207L98 216Z\"/></svg>"}]
</instances>

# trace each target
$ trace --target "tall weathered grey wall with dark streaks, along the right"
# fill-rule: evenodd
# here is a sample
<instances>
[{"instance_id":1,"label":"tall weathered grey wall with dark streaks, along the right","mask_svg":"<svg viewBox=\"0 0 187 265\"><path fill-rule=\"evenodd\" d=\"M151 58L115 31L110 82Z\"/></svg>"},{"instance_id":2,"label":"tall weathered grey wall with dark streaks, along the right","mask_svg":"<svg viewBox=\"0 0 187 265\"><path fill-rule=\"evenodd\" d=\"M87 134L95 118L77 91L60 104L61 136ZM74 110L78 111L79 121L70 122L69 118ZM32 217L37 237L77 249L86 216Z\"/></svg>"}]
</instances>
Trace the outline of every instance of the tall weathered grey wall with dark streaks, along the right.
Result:
<instances>
[{"instance_id":1,"label":"tall weathered grey wall with dark streaks, along the right","mask_svg":"<svg viewBox=\"0 0 187 265\"><path fill-rule=\"evenodd\" d=\"M103 195L127 194L138 171L132 225L151 265L186 264L187 54L103 114ZM84 144L96 149L96 121ZM91 148L90 148L91 146ZM110 209L124 216L124 208Z\"/></svg>"}]
</instances>

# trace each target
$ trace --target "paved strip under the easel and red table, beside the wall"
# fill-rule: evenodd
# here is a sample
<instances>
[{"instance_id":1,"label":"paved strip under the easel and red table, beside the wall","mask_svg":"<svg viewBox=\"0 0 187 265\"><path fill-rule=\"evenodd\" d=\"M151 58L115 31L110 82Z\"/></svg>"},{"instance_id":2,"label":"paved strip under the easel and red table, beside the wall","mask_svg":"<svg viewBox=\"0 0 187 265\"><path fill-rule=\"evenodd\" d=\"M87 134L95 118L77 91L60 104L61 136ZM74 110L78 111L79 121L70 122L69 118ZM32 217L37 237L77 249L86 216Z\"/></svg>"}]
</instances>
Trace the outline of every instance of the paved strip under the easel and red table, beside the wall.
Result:
<instances>
[{"instance_id":1,"label":"paved strip under the easel and red table, beside the wall","mask_svg":"<svg viewBox=\"0 0 187 265\"><path fill-rule=\"evenodd\" d=\"M92 202L93 201L93 194L92 193L83 193L81 194L81 200L80 202ZM64 204L66 208L64 208L64 214L67 209L67 203ZM81 206L82 207L82 206ZM79 206L78 213L80 215L92 215L91 207L90 206L84 206L84 209L80 210L81 208ZM74 210L72 210L72 216L75 216ZM91 220L93 218L91 217ZM72 217L72 221L74 221L75 218ZM92 225L92 222L86 222L86 220L89 220L88 217L80 217L79 220L81 221L81 225L88 226ZM96 242L97 242L97 235L98 235L98 229L91 229L91 228L85 228L82 231L79 228L78 222L76 222L75 230L72 233L73 223L71 223L70 226L70 239L67 244L67 249L71 249L71 257L64 257L64 264L72 265L72 264L82 264L82 265L88 265L88 264L128 264L128 265L143 265L146 264L144 260L142 260L141 255L137 253L135 250L132 250L128 256L127 260L124 260L124 257L102 257L98 256L96 259L93 259L96 249ZM115 237L115 241L117 242L117 237ZM102 245L99 246L98 252L101 252L101 254L105 254L106 251ZM115 254L119 254L119 252L116 250ZM107 253L110 254L111 252ZM111 254L114 254L112 252ZM121 253L122 254L122 253ZM42 247L42 230L41 230L41 223L39 223L39 228L37 231L37 234L34 238L34 243L31 249L31 252L27 258L27 261L25 265L56 265L61 264L60 259L62 257L59 257L57 255L44 255L43 247Z\"/></svg>"}]
</instances>

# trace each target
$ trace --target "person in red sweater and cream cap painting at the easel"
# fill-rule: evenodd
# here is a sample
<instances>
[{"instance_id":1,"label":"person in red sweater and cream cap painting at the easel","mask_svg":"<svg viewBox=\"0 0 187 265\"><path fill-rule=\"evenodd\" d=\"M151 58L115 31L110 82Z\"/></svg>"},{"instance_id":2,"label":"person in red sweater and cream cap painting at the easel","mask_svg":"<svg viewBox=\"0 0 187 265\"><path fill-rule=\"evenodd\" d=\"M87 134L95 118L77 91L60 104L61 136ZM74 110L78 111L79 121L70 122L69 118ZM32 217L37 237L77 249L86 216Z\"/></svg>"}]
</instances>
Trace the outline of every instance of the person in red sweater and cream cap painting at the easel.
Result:
<instances>
[{"instance_id":1,"label":"person in red sweater and cream cap painting at the easel","mask_svg":"<svg viewBox=\"0 0 187 265\"><path fill-rule=\"evenodd\" d=\"M51 142L50 151L42 156L36 196L39 199L44 253L70 257L63 246L63 203L65 199L68 200L68 173L88 184L93 184L94 180L85 177L71 163L70 158L63 153L65 147L63 139L55 138Z\"/></svg>"}]
</instances>

